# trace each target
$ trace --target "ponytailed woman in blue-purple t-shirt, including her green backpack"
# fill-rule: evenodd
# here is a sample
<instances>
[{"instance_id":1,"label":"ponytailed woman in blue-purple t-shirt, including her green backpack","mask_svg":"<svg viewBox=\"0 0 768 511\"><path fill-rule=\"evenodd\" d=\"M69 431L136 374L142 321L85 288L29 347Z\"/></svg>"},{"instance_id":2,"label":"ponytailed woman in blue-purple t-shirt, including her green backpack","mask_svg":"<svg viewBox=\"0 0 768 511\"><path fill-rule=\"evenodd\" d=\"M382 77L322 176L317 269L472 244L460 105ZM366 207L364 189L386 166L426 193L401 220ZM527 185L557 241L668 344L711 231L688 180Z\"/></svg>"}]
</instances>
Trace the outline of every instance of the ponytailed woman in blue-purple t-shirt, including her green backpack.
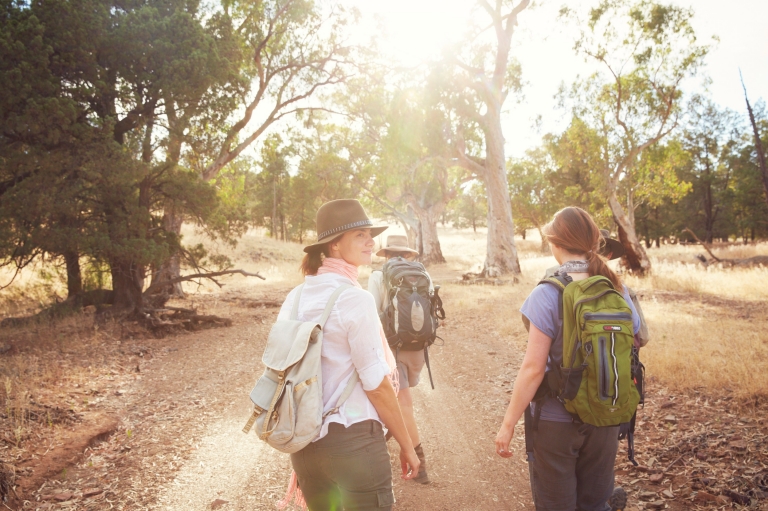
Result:
<instances>
[{"instance_id":1,"label":"ponytailed woman in blue-purple t-shirt, including her green backpack","mask_svg":"<svg viewBox=\"0 0 768 511\"><path fill-rule=\"evenodd\" d=\"M560 265L553 284L560 282L561 287L545 285L549 283L542 281L520 309L523 322L529 328L528 347L496 436L496 452L504 458L512 456L509 446L514 428L526 414L526 450L529 451L531 491L537 511L622 509L626 504L626 493L620 488L614 492L613 487L619 422L605 425L610 421L603 416L593 420L592 416L577 410L577 405L587 392L586 379L591 377L591 372L606 382L606 389L601 390L606 395L596 398L604 400L605 413L624 416L629 413L632 416L633 406L637 406L633 394L636 390L629 388L631 380L619 373L624 372L624 365L629 363L630 352L627 350L631 350L632 336L640 328L639 317L626 288L599 254L600 230L589 213L575 207L562 209L543 232ZM590 280L587 282L587 279ZM592 282L603 289L592 297L594 303L603 304L610 299L613 308L587 315L611 321L591 326L587 322L586 329L592 329L587 335L592 337L579 337L581 332L571 335L574 314L570 306L574 303L578 306L587 299L575 302L568 299L574 292L591 286ZM613 312L603 312L605 310ZM585 326L580 320L576 323L582 328ZM565 343L564 328L567 331ZM564 350L571 338L585 339L585 342L582 344L579 340L575 349ZM601 348L605 348L605 357L596 358L599 363L593 365L590 356ZM584 384L580 386L582 377ZM617 417L617 420L624 421L624 418Z\"/></svg>"}]
</instances>

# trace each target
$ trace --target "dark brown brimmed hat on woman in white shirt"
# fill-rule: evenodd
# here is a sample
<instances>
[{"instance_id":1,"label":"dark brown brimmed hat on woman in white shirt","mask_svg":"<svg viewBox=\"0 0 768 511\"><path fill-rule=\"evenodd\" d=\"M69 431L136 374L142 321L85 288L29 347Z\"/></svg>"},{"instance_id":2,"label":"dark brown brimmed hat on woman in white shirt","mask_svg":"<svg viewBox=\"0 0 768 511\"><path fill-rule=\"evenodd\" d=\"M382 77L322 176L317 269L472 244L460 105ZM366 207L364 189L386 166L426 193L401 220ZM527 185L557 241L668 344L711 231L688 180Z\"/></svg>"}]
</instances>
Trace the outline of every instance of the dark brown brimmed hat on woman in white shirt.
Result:
<instances>
[{"instance_id":1,"label":"dark brown brimmed hat on woman in white shirt","mask_svg":"<svg viewBox=\"0 0 768 511\"><path fill-rule=\"evenodd\" d=\"M363 205L356 199L339 199L326 202L317 210L315 219L317 241L304 247L304 252L318 250L322 245L333 241L352 229L370 229L371 236L378 236L388 227L374 226Z\"/></svg>"}]
</instances>

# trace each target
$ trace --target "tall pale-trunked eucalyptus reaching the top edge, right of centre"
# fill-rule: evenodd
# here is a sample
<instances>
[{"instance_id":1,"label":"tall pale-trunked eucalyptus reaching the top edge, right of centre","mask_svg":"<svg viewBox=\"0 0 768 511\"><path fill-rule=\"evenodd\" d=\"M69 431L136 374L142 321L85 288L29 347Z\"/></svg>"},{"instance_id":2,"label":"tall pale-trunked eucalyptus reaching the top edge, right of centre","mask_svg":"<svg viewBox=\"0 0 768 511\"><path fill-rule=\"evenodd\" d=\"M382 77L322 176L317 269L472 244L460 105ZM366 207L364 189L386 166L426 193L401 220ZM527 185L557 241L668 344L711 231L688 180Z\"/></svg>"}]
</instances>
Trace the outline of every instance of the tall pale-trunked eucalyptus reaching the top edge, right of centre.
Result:
<instances>
[{"instance_id":1,"label":"tall pale-trunked eucalyptus reaching the top edge, right of centre","mask_svg":"<svg viewBox=\"0 0 768 511\"><path fill-rule=\"evenodd\" d=\"M510 92L521 86L520 66L511 57L512 36L518 15L529 3L479 0L482 21L475 21L466 40L451 48L446 58L451 68L443 80L445 94L460 118L453 134L454 156L459 165L483 180L488 193L483 274L489 277L520 273L501 112ZM473 130L482 134L479 144L465 138Z\"/></svg>"}]
</instances>

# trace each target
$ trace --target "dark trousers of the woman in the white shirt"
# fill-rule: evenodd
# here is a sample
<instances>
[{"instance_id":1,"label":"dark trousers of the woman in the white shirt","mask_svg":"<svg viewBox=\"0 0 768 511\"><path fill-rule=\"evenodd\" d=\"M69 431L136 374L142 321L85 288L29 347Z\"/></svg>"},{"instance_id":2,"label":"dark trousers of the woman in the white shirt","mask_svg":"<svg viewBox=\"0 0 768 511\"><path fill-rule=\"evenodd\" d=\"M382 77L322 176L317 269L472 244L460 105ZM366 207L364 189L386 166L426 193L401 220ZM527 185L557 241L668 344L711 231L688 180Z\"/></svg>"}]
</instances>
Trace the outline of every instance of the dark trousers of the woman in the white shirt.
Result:
<instances>
[{"instance_id":1,"label":"dark trousers of the woman in the white shirt","mask_svg":"<svg viewBox=\"0 0 768 511\"><path fill-rule=\"evenodd\" d=\"M381 423L367 420L328 434L291 454L310 511L387 511L395 503Z\"/></svg>"}]
</instances>

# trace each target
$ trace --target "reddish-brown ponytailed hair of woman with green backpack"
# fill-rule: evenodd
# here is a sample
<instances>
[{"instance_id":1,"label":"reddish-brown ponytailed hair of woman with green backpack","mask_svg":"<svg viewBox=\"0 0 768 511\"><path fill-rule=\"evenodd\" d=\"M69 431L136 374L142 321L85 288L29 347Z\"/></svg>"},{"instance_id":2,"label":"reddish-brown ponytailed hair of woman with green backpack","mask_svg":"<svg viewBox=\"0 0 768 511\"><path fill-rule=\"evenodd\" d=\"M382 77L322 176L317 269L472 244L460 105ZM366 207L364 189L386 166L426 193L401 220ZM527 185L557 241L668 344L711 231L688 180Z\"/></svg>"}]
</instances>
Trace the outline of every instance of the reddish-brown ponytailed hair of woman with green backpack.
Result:
<instances>
[{"instance_id":1,"label":"reddish-brown ponytailed hair of woman with green backpack","mask_svg":"<svg viewBox=\"0 0 768 511\"><path fill-rule=\"evenodd\" d=\"M542 230L549 243L574 255L583 254L589 263L587 271L590 277L602 275L621 291L621 279L600 255L600 229L589 213L576 207L563 208Z\"/></svg>"}]
</instances>

